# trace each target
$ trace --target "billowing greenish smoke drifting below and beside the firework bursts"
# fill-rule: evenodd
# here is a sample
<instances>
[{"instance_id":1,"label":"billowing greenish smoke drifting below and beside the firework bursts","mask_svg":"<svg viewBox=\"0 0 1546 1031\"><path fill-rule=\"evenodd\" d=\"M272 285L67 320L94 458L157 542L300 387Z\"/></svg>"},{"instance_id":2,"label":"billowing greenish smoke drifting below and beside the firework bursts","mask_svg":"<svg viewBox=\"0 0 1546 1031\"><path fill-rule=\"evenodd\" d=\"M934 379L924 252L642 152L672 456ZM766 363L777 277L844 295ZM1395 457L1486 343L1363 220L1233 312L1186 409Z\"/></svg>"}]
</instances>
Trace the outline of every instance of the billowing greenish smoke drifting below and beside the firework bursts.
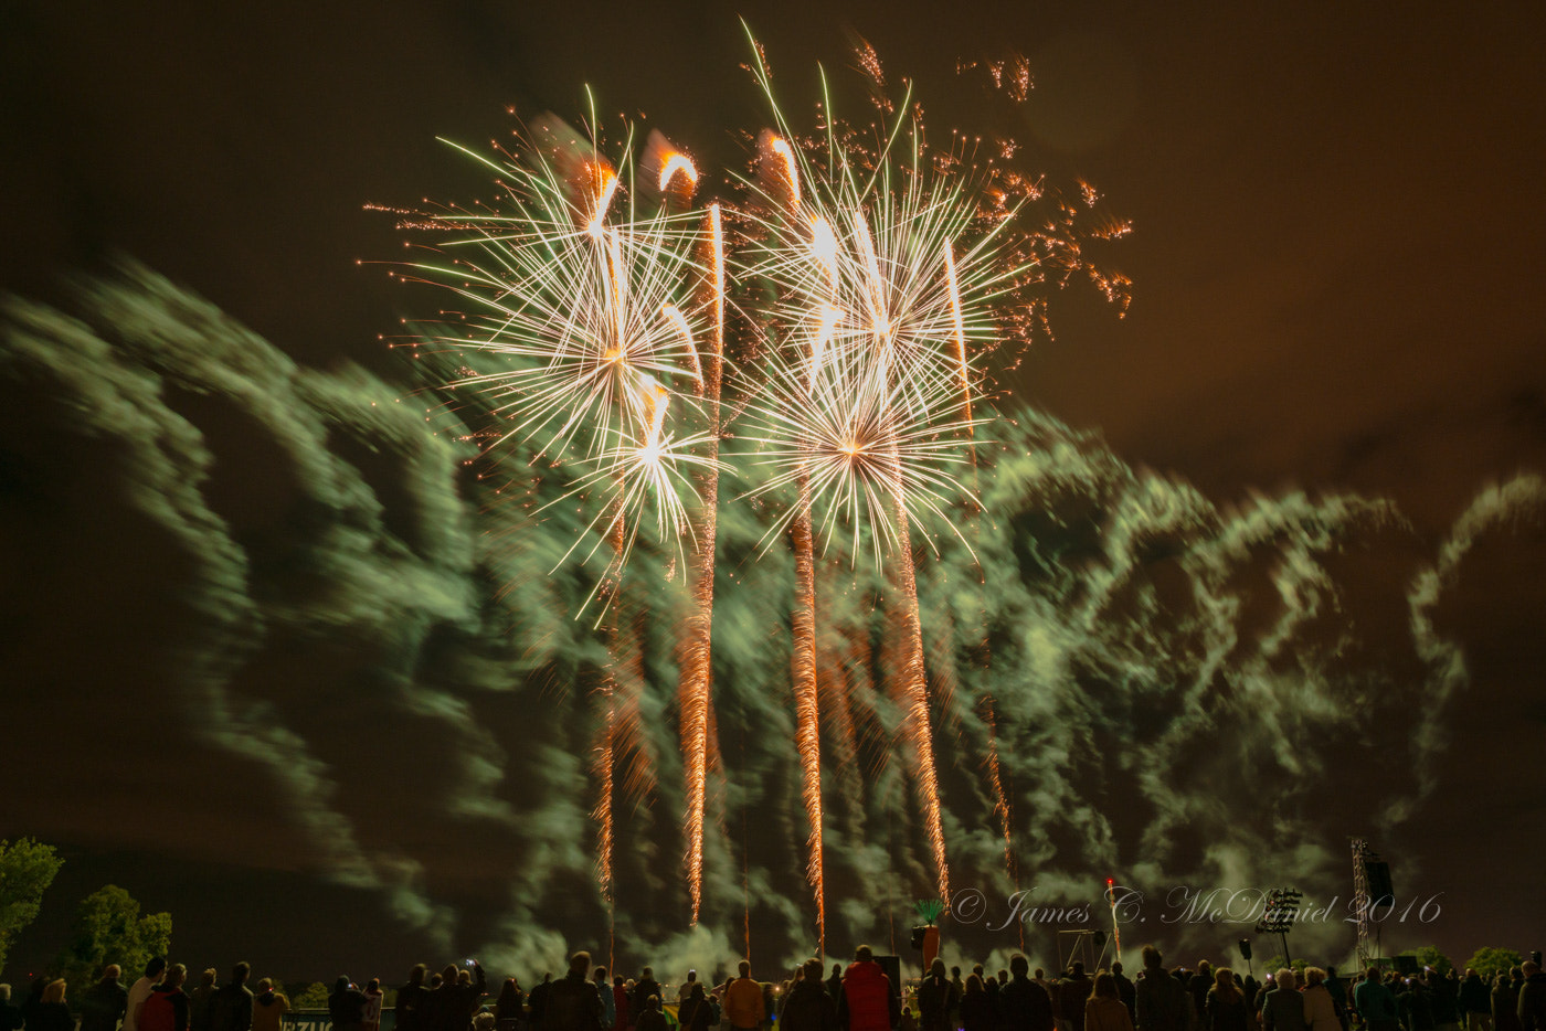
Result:
<instances>
[{"instance_id":1,"label":"billowing greenish smoke drifting below and beside the firework bursts","mask_svg":"<svg viewBox=\"0 0 1546 1031\"><path fill-rule=\"evenodd\" d=\"M785 549L759 549L767 512L722 490L691 929L682 572L648 547L629 569L618 604L648 686L626 762L643 776L625 778L609 915L591 821L608 654L594 614L575 618L597 577L581 502L544 507L540 468L478 459L470 410L458 422L438 396L297 365L142 269L87 283L73 314L11 300L3 318L0 663L15 720L68 713L96 743L59 770L71 804L17 799L19 824L298 866L377 892L421 941L512 969L615 941L620 965L708 972L748 923L764 961L812 949L792 572ZM1467 683L1435 607L1476 539L1538 519L1540 479L1480 495L1433 555L1388 501L1220 507L1031 411L980 454L983 510L954 513L969 550L937 527L920 555L951 880L977 900L948 921L951 949L1019 948L1016 889L1102 926L1108 875L1155 918L1177 886L1345 901L1347 835L1411 818ZM846 558L818 583L827 941L904 951L932 861L889 694L884 577ZM17 762L49 762L46 736L12 742ZM173 793L196 818L108 816ZM1025 946L1050 961L1054 929L1027 923ZM1337 921L1302 935L1348 948Z\"/></svg>"}]
</instances>

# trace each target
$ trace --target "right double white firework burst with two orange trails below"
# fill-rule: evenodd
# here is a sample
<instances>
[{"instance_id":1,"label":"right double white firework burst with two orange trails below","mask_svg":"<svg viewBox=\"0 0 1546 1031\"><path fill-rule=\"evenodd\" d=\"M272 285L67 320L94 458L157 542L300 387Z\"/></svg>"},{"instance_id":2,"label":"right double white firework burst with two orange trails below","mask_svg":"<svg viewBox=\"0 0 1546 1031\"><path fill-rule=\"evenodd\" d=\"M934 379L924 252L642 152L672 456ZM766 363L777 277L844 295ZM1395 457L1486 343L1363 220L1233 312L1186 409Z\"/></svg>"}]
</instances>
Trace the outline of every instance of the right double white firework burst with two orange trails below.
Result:
<instances>
[{"instance_id":1,"label":"right double white firework burst with two orange trails below","mask_svg":"<svg viewBox=\"0 0 1546 1031\"><path fill-rule=\"evenodd\" d=\"M775 530L792 527L796 547L796 740L818 914L815 655L801 655L801 628L815 611L801 552L807 535L822 547L847 535L855 558L869 539L878 563L892 556L903 598L895 614L898 697L938 890L948 898L912 539L968 495L957 471L971 464L971 352L996 339L993 301L1016 289L1022 269L1002 260L1008 223L982 218L980 182L931 161L906 99L894 122L861 142L830 117L824 90L824 136L793 144L765 65L754 74L775 128L762 136L759 175L745 181L756 224L742 275L771 283L776 300L765 322L775 337L770 368L748 408L748 436L759 445L756 461L775 467L758 493L795 490Z\"/></svg>"}]
</instances>

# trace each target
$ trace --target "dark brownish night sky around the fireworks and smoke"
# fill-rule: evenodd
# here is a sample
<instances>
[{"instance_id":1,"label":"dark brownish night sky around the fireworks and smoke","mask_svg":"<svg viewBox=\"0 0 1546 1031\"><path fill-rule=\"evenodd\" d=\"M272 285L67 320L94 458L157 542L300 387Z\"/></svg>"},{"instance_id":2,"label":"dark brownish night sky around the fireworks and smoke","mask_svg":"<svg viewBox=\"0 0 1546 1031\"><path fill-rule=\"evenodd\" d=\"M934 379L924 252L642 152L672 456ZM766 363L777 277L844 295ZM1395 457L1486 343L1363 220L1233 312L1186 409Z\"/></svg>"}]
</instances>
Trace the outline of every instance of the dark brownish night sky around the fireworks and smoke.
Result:
<instances>
[{"instance_id":1,"label":"dark brownish night sky around the fireworks and smoke","mask_svg":"<svg viewBox=\"0 0 1546 1031\"><path fill-rule=\"evenodd\" d=\"M357 264L400 253L393 219L365 204L479 195L485 176L436 136L506 139L510 107L575 117L584 83L603 111L643 117L700 167L739 167L736 134L754 133L764 114L739 66L737 14L764 43L787 111L815 99L816 62L852 63L847 31L875 46L894 80L917 82L937 134L980 104L959 63L1030 60L1036 85L1014 127L1023 159L1051 181L1088 179L1105 210L1132 221L1105 260L1135 288L1125 318L1090 291L1054 295L1056 339L1025 356L1013 394L1061 420L1057 434L1090 431L1079 437L1085 453L1115 456L1138 479L1190 484L1221 518L1263 499L1288 505L1299 492L1388 501L1367 538L1336 549L1345 592L1333 618L1339 654L1391 671L1381 689L1399 697L1342 714L1385 726L1317 753L1323 808L1313 799L1299 812L1323 812L1319 830L1337 842L1374 833L1373 796L1359 808L1367 770L1382 785L1425 785L1376 847L1398 895L1442 892L1444 915L1390 931L1387 946L1436 943L1456 961L1484 944L1540 946L1546 487L1534 476L1546 473L1546 22L1532 5L9 3L0 9L0 286L76 314L68 283L128 255L277 348L252 382L288 356L400 383L400 356L379 337L433 301ZM218 332L237 329L220 322ZM201 376L176 388L184 414L215 393ZM130 379L114 396L131 402ZM131 437L138 416L131 403L82 410L76 425L90 428L62 430L80 402L56 405L40 382L0 379L9 536L0 543L0 836L54 842L66 866L3 975L19 980L54 955L74 900L107 881L172 910L178 958L250 958L281 977L339 968L397 978L419 958L450 960L439 952L451 943L465 952L524 934L529 912L495 914L490 901L502 838L450 818L461 830L421 835L427 810L456 810L438 798L438 778L455 781L459 767L450 753L410 759L373 747L390 730L390 703L386 716L360 719L354 759L328 753L335 770L369 771L342 788L339 807L373 813L377 841L424 838L414 855L430 870L425 893L456 915L450 929L439 917L405 921L379 866L351 880L357 856L318 846L317 827L260 762L233 760L187 725L178 677L206 662L220 675L221 660L147 641L203 626L209 606L189 600L179 552L158 550L161 538L125 515L133 505L93 495L113 482L108 470L135 461L114 433ZM94 396L90 383L70 390ZM283 411L297 397L274 394L252 410ZM277 451L221 444L247 431L240 419L201 425L218 456L218 510L261 512L306 493ZM142 470L141 482L178 479ZM390 492L377 493L391 522ZM272 544L258 530L235 536L249 556ZM1411 655L1425 669L1449 658L1415 643L1422 635L1405 603L1367 603L1411 597L1424 570L1442 584L1424 611L1464 663L1442 705L1424 694L1433 680L1411 674ZM1266 580L1260 589L1271 590ZM257 603L271 626L283 621ZM212 655L241 652L243 618L210 631L209 641L226 641ZM284 618L294 628L311 617ZM430 652L445 646L427 637ZM356 674L363 662L334 658ZM318 654L297 634L252 662L241 677L309 683L315 669L300 668ZM445 688L458 672L422 675ZM356 719L322 711L335 726ZM1402 713L1427 717L1421 768L1393 745L1407 737ZM728 740L731 716L720 720ZM521 740L510 706L479 722L496 740ZM1232 728L1220 722L1217 733ZM1285 785L1248 788L1260 808L1240 822L1269 821ZM1206 796L1209 784L1177 790ZM1119 795L1105 796L1105 819L1124 859L1141 866ZM506 833L541 833L533 827ZM583 827L572 833L581 847ZM1254 863L1275 880L1300 876L1288 859ZM1076 866L1061 859L1059 870ZM1340 881L1316 870L1314 884L1350 892L1343 867ZM1084 870L1091 883L1110 872ZM1187 941L1220 949L1237 937ZM1337 941L1331 961L1351 937ZM983 951L994 944L1003 943Z\"/></svg>"}]
</instances>

